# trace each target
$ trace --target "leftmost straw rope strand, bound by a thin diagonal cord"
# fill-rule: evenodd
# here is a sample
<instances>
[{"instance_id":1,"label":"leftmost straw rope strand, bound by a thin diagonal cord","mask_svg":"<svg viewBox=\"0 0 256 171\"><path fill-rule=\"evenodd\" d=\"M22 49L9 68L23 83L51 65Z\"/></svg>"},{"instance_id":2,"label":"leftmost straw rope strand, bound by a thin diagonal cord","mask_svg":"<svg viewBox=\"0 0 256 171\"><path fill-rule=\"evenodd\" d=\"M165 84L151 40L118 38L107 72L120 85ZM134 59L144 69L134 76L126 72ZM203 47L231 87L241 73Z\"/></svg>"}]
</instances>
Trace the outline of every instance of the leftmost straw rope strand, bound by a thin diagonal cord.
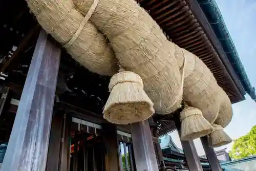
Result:
<instances>
[{"instance_id":1,"label":"leftmost straw rope strand, bound by a thin diagonal cord","mask_svg":"<svg viewBox=\"0 0 256 171\"><path fill-rule=\"evenodd\" d=\"M101 75L117 73L117 60L106 38L74 8L71 0L27 0L39 24L82 66ZM81 24L84 24L81 25ZM83 26L80 27L79 26ZM79 30L80 29L80 30ZM78 32L78 37L69 42Z\"/></svg>"}]
</instances>

